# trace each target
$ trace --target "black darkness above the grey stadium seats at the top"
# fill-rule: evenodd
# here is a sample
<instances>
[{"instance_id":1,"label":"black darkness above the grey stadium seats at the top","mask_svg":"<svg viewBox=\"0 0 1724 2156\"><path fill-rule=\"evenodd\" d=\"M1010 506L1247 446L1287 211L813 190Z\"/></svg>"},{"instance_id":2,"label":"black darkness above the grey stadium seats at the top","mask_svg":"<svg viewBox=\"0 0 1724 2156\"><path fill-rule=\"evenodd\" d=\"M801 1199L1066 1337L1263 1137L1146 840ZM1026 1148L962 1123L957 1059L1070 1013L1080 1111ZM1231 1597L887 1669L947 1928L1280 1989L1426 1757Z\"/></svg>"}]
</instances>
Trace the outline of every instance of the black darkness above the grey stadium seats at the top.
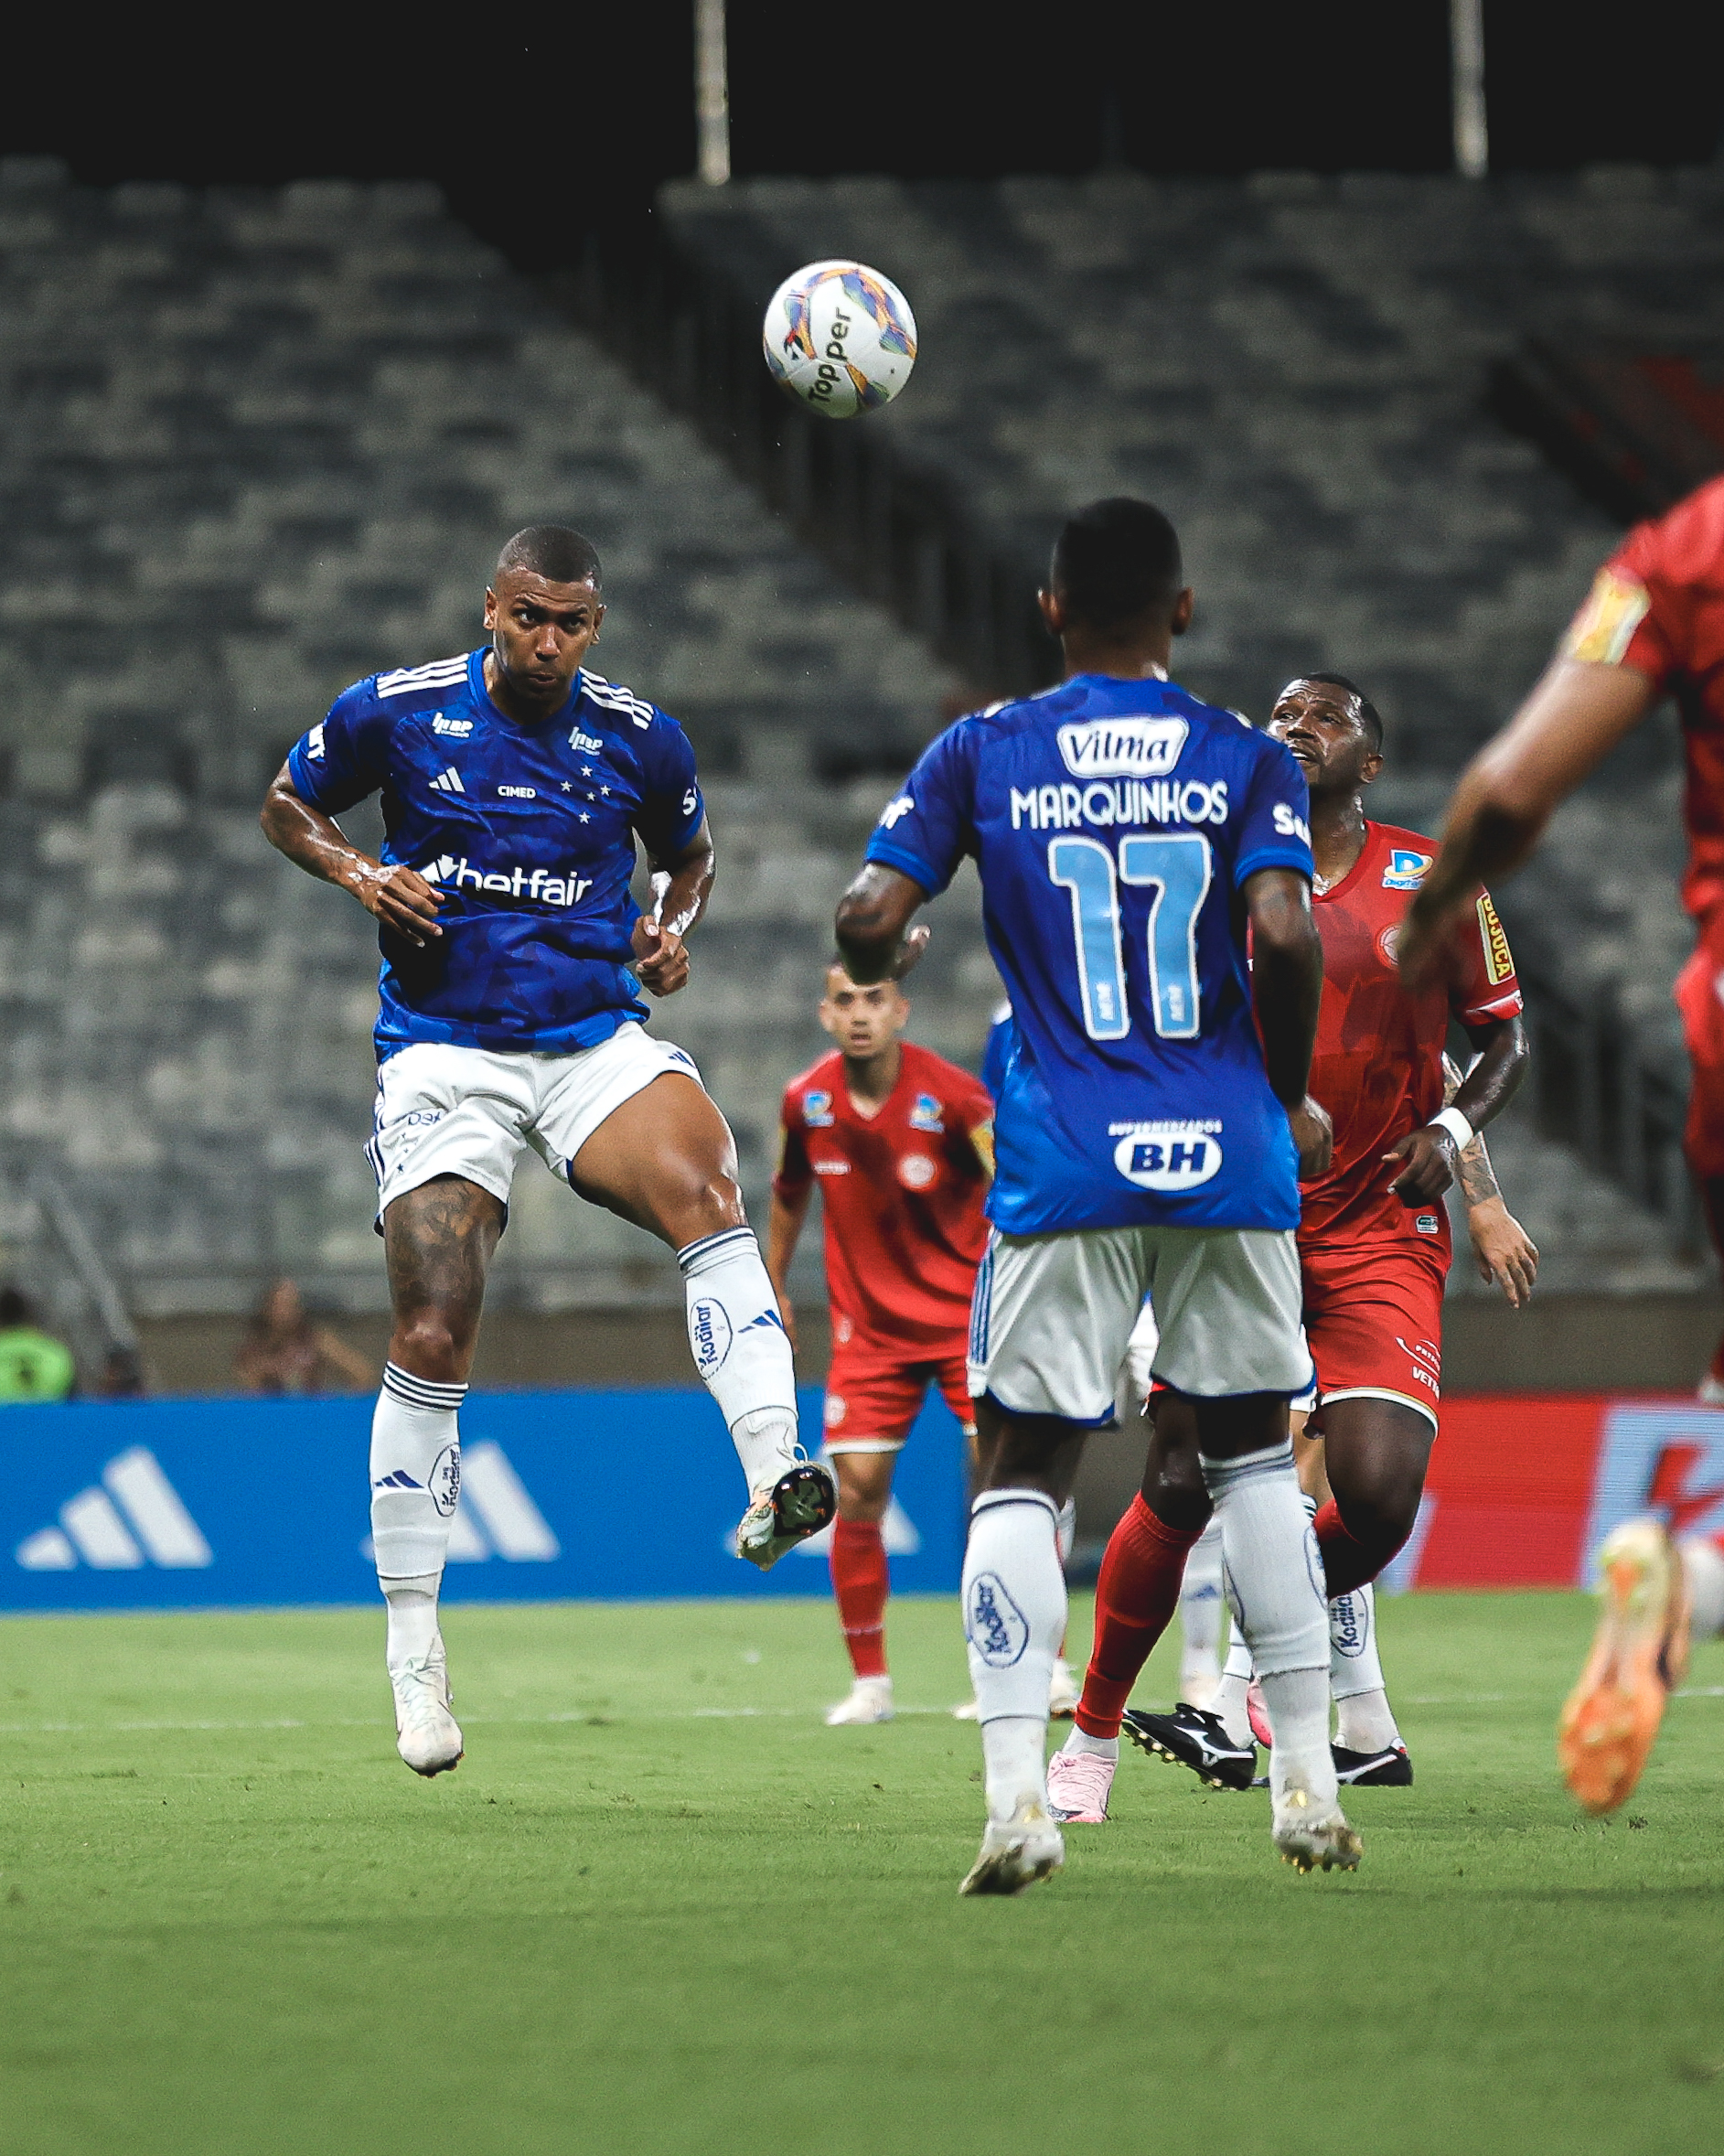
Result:
<instances>
[{"instance_id":1,"label":"black darkness above the grey stadium seats at the top","mask_svg":"<svg viewBox=\"0 0 1724 2156\"><path fill-rule=\"evenodd\" d=\"M1718 153L1718 0L1487 0L1485 37L1493 170ZM692 170L692 0L41 11L9 26L0 153L95 183L431 177L552 265ZM1431 172L1450 164L1448 6L731 0L731 103L739 175Z\"/></svg>"}]
</instances>

